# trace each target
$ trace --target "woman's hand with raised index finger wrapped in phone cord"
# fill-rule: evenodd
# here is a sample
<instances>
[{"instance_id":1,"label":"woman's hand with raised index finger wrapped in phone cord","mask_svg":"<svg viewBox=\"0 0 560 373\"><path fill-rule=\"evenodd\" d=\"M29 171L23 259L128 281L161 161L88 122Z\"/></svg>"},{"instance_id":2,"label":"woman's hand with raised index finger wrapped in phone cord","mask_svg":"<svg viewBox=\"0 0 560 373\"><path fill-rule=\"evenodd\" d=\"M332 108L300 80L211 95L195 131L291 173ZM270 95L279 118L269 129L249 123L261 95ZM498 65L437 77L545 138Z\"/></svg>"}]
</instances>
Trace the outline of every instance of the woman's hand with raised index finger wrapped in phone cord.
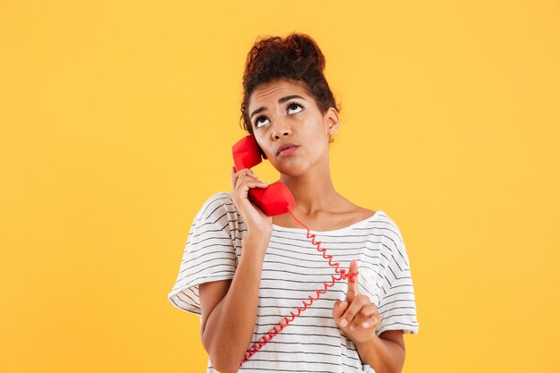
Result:
<instances>
[{"instance_id":1,"label":"woman's hand with raised index finger wrapped in phone cord","mask_svg":"<svg viewBox=\"0 0 560 373\"><path fill-rule=\"evenodd\" d=\"M352 259L348 273L358 272L358 262ZM345 301L335 301L333 308L335 323L353 343L368 342L375 336L381 322L378 308L367 295L358 291L358 276L354 282L348 277L348 292Z\"/></svg>"}]
</instances>

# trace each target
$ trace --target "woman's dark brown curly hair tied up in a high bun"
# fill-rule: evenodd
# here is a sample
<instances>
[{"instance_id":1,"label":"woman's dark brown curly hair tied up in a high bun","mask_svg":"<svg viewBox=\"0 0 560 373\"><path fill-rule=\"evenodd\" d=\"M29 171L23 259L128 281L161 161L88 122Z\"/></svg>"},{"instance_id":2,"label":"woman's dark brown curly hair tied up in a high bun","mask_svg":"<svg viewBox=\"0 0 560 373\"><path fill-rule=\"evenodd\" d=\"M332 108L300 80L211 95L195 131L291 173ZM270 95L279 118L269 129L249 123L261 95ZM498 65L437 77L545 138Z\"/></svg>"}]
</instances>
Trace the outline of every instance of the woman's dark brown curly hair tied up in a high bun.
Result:
<instances>
[{"instance_id":1,"label":"woman's dark brown curly hair tied up in a high bun","mask_svg":"<svg viewBox=\"0 0 560 373\"><path fill-rule=\"evenodd\" d=\"M340 112L335 97L328 86L323 71L325 55L317 42L307 34L292 32L285 38L258 39L251 47L243 72L243 102L241 106L242 128L253 134L249 118L249 97L263 83L280 79L300 84L315 99L321 114L329 107ZM334 140L329 136L328 142Z\"/></svg>"}]
</instances>

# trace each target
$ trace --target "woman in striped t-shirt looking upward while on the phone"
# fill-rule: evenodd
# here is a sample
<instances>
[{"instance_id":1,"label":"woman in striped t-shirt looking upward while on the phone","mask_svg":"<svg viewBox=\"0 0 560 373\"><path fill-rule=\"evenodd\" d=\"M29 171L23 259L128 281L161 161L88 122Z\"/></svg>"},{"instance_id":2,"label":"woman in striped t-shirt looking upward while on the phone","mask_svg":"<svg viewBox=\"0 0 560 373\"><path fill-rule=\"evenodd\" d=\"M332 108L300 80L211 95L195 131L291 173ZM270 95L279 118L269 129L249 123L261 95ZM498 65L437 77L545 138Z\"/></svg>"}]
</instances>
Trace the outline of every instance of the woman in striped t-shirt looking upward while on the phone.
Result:
<instances>
[{"instance_id":1,"label":"woman in striped t-shirt looking upward while on the phone","mask_svg":"<svg viewBox=\"0 0 560 373\"><path fill-rule=\"evenodd\" d=\"M267 184L233 167L233 191L210 197L195 217L168 295L177 308L199 315L208 372L400 372L403 332L418 333L398 227L383 211L345 199L331 180L328 145L340 108L324 68L308 35L259 40L243 75L242 120L292 192L294 216L335 262L359 276L336 282L243 360L251 345L330 283L334 270L290 214L266 216L250 202L250 188Z\"/></svg>"}]
</instances>

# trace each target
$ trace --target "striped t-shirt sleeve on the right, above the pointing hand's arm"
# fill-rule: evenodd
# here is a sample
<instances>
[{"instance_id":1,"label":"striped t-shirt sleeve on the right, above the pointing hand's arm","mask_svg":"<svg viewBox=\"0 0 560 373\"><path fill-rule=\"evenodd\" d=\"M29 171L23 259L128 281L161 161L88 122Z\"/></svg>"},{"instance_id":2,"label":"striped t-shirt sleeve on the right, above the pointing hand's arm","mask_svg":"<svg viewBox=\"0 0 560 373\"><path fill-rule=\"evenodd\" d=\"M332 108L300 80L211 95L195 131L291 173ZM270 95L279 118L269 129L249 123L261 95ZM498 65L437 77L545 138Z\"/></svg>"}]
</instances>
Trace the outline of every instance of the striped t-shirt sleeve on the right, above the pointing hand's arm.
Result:
<instances>
[{"instance_id":1,"label":"striped t-shirt sleeve on the right, above the pointing hand's arm","mask_svg":"<svg viewBox=\"0 0 560 373\"><path fill-rule=\"evenodd\" d=\"M381 322L376 330L380 335L386 330L402 329L403 333L418 334L416 301L410 260L403 236L396 225L386 235L386 244L392 248L380 292L378 311Z\"/></svg>"}]
</instances>

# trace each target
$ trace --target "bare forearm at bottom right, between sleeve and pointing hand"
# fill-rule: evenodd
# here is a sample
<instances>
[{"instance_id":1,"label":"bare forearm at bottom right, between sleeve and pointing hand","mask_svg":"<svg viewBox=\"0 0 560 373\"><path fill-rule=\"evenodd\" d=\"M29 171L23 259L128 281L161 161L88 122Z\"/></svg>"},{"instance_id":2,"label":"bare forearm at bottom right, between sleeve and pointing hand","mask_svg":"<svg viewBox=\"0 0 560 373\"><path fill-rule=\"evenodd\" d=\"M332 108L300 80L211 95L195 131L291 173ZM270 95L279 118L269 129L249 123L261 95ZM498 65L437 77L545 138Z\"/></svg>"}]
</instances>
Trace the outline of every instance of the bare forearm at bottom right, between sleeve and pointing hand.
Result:
<instances>
[{"instance_id":1,"label":"bare forearm at bottom right, between sleeve and pointing hand","mask_svg":"<svg viewBox=\"0 0 560 373\"><path fill-rule=\"evenodd\" d=\"M355 345L361 362L376 373L401 373L403 370L404 351L397 343L373 335L369 342Z\"/></svg>"}]
</instances>

